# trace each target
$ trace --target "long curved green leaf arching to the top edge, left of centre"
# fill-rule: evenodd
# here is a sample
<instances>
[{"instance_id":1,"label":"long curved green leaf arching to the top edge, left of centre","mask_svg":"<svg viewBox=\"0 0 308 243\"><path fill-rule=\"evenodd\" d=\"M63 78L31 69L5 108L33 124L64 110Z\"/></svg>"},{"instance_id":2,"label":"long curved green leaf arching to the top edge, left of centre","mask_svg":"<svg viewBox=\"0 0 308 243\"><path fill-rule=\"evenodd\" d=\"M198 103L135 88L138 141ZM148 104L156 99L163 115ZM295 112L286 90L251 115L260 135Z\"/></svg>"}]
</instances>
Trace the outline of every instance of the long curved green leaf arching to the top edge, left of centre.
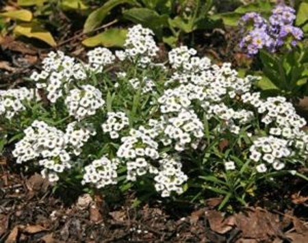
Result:
<instances>
[{"instance_id":1,"label":"long curved green leaf arching to the top edge, left of centre","mask_svg":"<svg viewBox=\"0 0 308 243\"><path fill-rule=\"evenodd\" d=\"M96 27L98 27L104 18L110 14L110 10L115 8L117 5L129 3L131 5L136 5L136 1L133 0L109 0L107 1L101 8L94 10L86 19L86 23L84 23L84 33L88 33L92 31Z\"/></svg>"}]
</instances>

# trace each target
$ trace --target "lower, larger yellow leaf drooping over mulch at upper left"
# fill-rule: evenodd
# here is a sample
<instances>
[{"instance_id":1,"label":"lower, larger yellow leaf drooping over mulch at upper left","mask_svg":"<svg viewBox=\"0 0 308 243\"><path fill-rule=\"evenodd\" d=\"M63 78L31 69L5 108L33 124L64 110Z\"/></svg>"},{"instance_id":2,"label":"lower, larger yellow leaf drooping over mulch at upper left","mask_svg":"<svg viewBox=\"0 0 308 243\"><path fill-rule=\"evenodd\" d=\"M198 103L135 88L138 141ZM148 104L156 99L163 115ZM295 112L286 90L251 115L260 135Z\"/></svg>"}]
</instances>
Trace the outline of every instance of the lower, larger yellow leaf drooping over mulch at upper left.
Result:
<instances>
[{"instance_id":1,"label":"lower, larger yellow leaf drooping over mulch at upper left","mask_svg":"<svg viewBox=\"0 0 308 243\"><path fill-rule=\"evenodd\" d=\"M53 39L53 36L44 29L33 25L16 25L14 28L14 32L16 34L26 36L28 38L36 38L38 40L42 40L47 44L51 45L51 47L55 47L57 43Z\"/></svg>"}]
</instances>

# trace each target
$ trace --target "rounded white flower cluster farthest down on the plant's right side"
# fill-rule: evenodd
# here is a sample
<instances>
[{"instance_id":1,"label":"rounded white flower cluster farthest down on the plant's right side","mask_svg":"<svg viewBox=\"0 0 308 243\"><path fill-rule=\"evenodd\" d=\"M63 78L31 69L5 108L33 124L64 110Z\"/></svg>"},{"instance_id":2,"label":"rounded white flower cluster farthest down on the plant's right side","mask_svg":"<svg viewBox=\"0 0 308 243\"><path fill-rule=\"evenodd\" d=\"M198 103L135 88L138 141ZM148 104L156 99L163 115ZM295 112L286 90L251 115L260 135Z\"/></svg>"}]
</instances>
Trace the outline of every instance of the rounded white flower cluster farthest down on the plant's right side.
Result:
<instances>
[{"instance_id":1,"label":"rounded white flower cluster farthest down on the plant's right side","mask_svg":"<svg viewBox=\"0 0 308 243\"><path fill-rule=\"evenodd\" d=\"M258 138L249 149L251 151L250 159L254 162L266 162L271 164L275 170L282 170L285 167L283 159L292 155L288 143L287 140L273 136ZM258 172L268 170L264 163L257 165L256 169Z\"/></svg>"}]
</instances>

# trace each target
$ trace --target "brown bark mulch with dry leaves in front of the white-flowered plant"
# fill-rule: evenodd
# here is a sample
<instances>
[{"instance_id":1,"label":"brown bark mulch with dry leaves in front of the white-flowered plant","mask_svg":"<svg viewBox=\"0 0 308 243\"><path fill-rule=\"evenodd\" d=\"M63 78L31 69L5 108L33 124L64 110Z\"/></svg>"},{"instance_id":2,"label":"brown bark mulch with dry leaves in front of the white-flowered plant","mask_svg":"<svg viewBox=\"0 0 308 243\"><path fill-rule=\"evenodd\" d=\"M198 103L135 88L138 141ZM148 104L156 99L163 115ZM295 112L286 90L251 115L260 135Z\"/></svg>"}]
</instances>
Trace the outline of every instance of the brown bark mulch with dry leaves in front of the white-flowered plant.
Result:
<instances>
[{"instance_id":1,"label":"brown bark mulch with dry leaves in front of the white-flowered plant","mask_svg":"<svg viewBox=\"0 0 308 243\"><path fill-rule=\"evenodd\" d=\"M177 213L162 203L107 205L102 196L79 196L70 205L40 175L0 170L0 242L307 242L307 218L294 212L248 207L222 214L219 199ZM296 195L294 196L294 200ZM294 204L305 205L297 197Z\"/></svg>"}]
</instances>

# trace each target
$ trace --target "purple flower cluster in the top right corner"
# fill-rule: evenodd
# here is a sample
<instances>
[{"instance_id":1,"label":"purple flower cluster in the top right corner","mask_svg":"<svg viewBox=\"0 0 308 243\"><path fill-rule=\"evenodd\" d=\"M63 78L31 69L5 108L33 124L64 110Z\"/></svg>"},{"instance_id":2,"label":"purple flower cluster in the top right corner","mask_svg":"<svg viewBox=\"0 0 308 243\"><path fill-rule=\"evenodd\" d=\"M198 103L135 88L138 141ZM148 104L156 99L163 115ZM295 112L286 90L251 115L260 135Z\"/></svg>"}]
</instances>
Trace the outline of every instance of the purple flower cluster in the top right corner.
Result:
<instances>
[{"instance_id":1,"label":"purple flower cluster in the top right corner","mask_svg":"<svg viewBox=\"0 0 308 243\"><path fill-rule=\"evenodd\" d=\"M239 22L244 34L240 48L248 55L255 55L261 49L274 52L279 47L296 46L303 38L303 31L293 25L295 18L295 10L283 4L272 10L268 21L256 12L245 14Z\"/></svg>"}]
</instances>

